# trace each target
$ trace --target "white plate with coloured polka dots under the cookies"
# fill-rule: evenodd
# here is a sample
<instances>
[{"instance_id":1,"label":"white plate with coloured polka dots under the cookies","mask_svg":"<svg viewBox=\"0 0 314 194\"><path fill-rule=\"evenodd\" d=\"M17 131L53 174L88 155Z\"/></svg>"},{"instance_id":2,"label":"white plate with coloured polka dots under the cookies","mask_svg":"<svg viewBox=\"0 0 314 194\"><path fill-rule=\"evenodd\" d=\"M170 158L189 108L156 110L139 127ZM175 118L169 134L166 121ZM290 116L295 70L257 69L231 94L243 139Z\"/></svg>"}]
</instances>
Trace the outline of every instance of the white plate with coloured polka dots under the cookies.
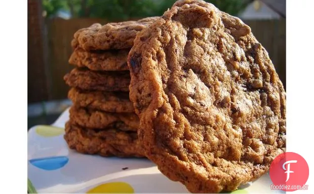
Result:
<instances>
[{"instance_id":1,"label":"white plate with coloured polka dots under the cookies","mask_svg":"<svg viewBox=\"0 0 314 194\"><path fill-rule=\"evenodd\" d=\"M28 132L28 179L38 193L189 193L148 159L108 158L70 150L63 139L68 119L67 110L52 125L34 126ZM272 191L271 184L265 174L232 193L285 193Z\"/></svg>"}]
</instances>

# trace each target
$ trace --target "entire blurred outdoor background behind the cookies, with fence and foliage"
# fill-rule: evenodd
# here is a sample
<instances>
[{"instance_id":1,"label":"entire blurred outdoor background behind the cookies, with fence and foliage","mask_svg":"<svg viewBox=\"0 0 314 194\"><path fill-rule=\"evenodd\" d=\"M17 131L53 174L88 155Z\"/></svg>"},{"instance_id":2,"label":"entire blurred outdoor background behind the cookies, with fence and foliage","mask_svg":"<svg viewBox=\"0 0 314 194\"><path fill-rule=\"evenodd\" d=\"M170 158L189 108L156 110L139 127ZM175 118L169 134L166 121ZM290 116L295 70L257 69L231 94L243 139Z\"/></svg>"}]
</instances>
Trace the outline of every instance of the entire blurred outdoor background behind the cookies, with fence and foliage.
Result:
<instances>
[{"instance_id":1,"label":"entire blurred outdoor background behind the cookies, with fence and foliage","mask_svg":"<svg viewBox=\"0 0 314 194\"><path fill-rule=\"evenodd\" d=\"M249 25L285 85L286 1L206 0ZM28 0L28 128L51 124L71 105L63 76L73 66L71 40L80 28L160 16L175 0Z\"/></svg>"}]
</instances>

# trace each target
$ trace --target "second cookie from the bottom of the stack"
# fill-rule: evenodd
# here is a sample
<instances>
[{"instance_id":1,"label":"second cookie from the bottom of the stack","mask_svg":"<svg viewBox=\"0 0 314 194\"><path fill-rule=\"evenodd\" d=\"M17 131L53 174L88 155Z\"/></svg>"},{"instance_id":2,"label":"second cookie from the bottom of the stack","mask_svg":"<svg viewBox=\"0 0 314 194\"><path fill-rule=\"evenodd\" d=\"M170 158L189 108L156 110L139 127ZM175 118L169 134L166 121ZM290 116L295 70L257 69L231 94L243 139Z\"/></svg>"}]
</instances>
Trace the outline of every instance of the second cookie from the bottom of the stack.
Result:
<instances>
[{"instance_id":1,"label":"second cookie from the bottom of the stack","mask_svg":"<svg viewBox=\"0 0 314 194\"><path fill-rule=\"evenodd\" d=\"M139 118L135 113L108 113L72 106L70 119L82 127L103 129L119 127L123 131L137 131Z\"/></svg>"}]
</instances>

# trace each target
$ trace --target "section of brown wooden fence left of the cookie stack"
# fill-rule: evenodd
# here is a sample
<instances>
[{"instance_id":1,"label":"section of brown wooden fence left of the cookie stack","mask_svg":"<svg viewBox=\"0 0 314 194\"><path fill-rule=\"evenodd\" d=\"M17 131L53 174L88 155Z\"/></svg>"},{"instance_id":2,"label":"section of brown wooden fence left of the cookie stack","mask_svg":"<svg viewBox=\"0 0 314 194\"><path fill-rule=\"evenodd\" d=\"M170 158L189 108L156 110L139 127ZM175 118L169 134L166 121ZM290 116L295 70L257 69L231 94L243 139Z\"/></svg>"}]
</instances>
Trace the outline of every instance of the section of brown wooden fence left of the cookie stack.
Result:
<instances>
[{"instance_id":1,"label":"section of brown wooden fence left of the cookie stack","mask_svg":"<svg viewBox=\"0 0 314 194\"><path fill-rule=\"evenodd\" d=\"M52 19L46 21L48 36L48 67L50 72L50 88L52 99L63 99L67 97L69 87L65 84L63 77L71 71L74 66L69 65L68 60L72 53L71 41L74 33L92 25L93 23L107 23L104 19Z\"/></svg>"}]
</instances>

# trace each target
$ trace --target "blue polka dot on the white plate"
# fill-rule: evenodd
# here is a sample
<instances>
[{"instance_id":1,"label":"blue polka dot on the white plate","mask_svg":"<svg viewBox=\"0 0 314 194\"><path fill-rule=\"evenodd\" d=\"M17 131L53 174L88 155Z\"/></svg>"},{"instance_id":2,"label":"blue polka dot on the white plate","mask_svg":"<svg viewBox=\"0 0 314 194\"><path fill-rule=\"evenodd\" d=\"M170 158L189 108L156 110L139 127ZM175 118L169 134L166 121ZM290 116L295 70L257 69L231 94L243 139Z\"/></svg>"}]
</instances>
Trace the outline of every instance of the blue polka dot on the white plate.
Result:
<instances>
[{"instance_id":1,"label":"blue polka dot on the white plate","mask_svg":"<svg viewBox=\"0 0 314 194\"><path fill-rule=\"evenodd\" d=\"M53 156L31 159L29 161L32 165L43 170L57 170L65 166L68 163L69 158L66 156Z\"/></svg>"}]
</instances>

